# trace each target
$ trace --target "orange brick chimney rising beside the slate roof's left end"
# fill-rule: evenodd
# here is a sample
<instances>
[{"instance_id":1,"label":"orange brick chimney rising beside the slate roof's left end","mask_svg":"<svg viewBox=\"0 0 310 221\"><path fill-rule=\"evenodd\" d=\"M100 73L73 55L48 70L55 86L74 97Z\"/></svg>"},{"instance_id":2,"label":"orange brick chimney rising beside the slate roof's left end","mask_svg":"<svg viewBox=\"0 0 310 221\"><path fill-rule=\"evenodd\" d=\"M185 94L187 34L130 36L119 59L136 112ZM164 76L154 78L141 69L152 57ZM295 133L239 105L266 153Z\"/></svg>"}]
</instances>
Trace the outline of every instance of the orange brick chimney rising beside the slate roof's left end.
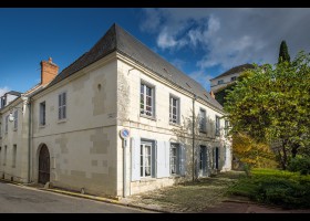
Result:
<instances>
[{"instance_id":1,"label":"orange brick chimney rising beside the slate roof's left end","mask_svg":"<svg viewBox=\"0 0 310 221\"><path fill-rule=\"evenodd\" d=\"M40 64L41 85L49 84L58 75L59 66L52 62L52 57L49 57L49 61L42 61Z\"/></svg>"}]
</instances>

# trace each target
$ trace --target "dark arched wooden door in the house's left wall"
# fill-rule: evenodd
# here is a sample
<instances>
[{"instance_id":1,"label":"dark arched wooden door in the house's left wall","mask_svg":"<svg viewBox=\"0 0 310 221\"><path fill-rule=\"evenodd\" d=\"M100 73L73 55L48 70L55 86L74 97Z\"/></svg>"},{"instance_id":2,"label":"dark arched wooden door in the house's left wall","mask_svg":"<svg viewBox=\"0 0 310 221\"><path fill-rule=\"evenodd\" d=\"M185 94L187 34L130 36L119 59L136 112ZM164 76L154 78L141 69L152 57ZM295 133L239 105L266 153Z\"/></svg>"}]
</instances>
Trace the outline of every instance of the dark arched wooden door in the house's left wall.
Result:
<instances>
[{"instance_id":1,"label":"dark arched wooden door in the house's left wall","mask_svg":"<svg viewBox=\"0 0 310 221\"><path fill-rule=\"evenodd\" d=\"M50 152L43 145L39 154L39 183L45 185L50 181Z\"/></svg>"}]
</instances>

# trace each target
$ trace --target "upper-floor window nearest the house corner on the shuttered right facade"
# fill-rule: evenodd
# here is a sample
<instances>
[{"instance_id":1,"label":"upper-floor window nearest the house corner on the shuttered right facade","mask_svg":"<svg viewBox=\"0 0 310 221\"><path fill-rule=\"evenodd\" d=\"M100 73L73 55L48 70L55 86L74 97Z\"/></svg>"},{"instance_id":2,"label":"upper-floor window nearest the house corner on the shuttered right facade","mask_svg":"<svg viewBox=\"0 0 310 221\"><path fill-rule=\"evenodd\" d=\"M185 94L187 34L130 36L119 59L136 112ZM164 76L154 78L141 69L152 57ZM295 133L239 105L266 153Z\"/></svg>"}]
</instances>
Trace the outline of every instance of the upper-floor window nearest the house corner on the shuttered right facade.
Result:
<instances>
[{"instance_id":1,"label":"upper-floor window nearest the house corner on the shuttered right facade","mask_svg":"<svg viewBox=\"0 0 310 221\"><path fill-rule=\"evenodd\" d=\"M141 84L140 113L146 116L154 116L154 87L144 83Z\"/></svg>"}]
</instances>

